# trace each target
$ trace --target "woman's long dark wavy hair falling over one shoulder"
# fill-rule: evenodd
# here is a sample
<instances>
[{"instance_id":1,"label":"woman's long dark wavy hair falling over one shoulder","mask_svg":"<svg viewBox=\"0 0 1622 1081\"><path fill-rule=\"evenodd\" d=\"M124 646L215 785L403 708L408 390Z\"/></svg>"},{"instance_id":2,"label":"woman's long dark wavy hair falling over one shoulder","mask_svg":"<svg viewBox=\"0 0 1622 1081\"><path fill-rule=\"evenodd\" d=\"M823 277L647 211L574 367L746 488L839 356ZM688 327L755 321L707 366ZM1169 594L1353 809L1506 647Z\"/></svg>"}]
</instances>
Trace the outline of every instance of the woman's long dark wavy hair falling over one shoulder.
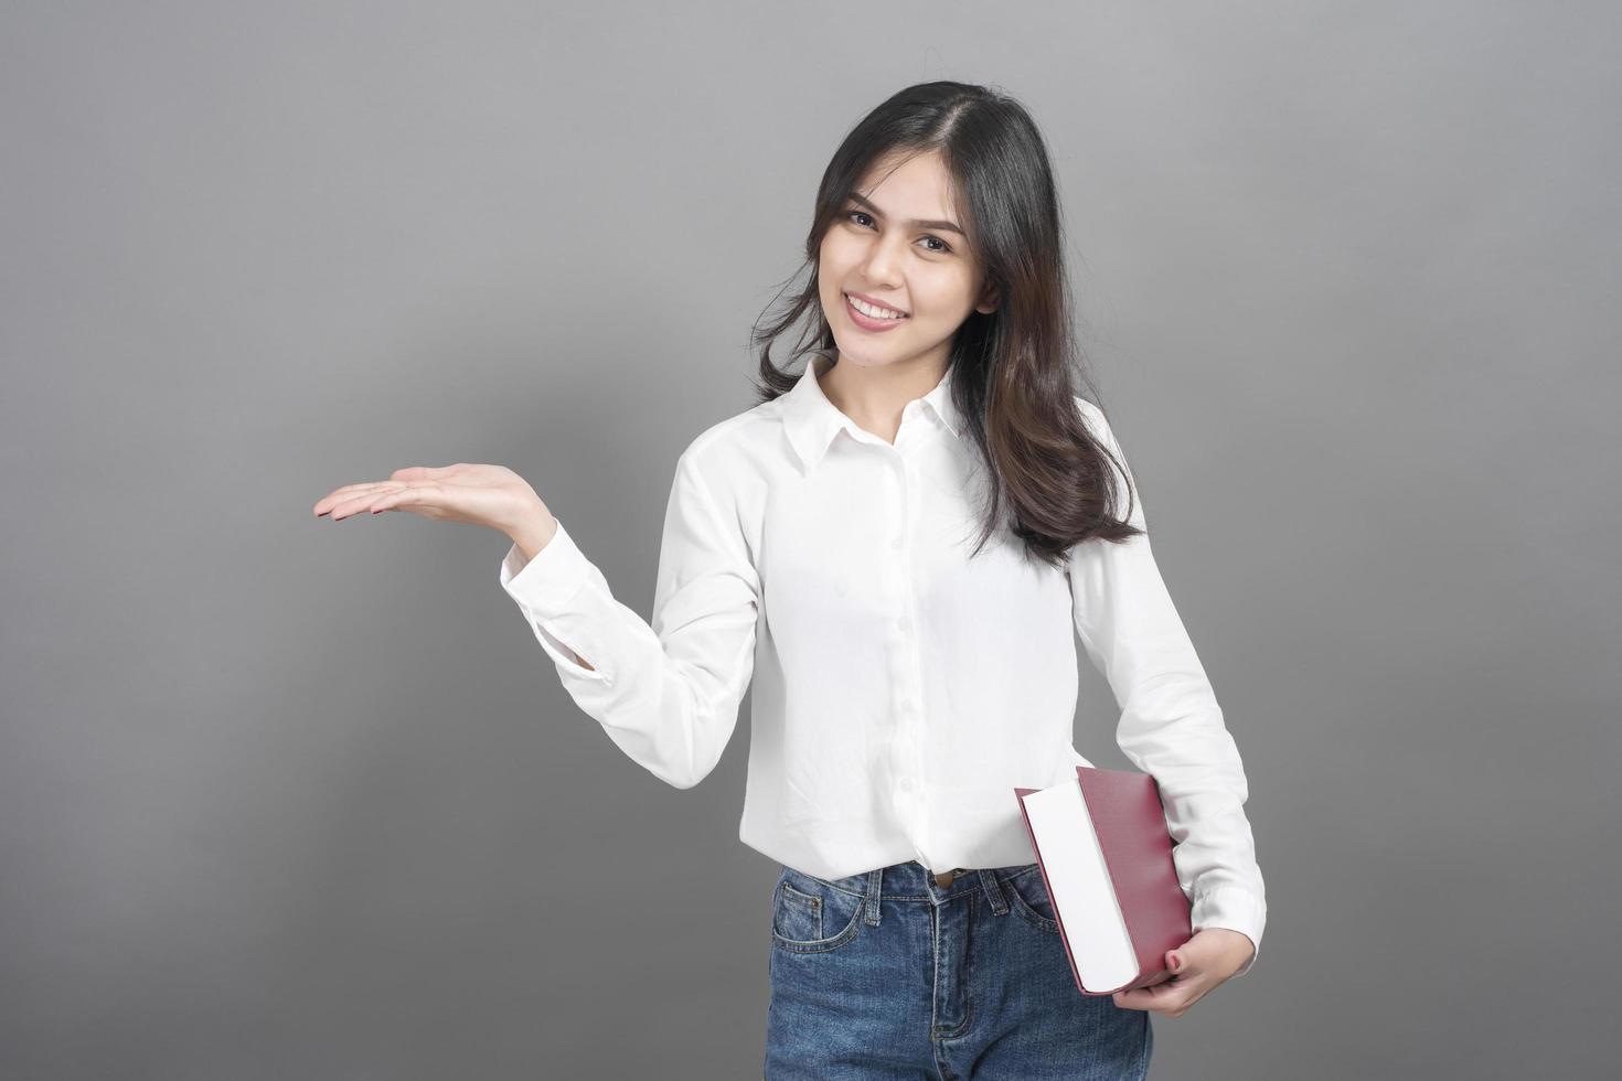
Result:
<instances>
[{"instance_id":1,"label":"woman's long dark wavy hair falling over one shoulder","mask_svg":"<svg viewBox=\"0 0 1622 1081\"><path fill-rule=\"evenodd\" d=\"M952 339L952 399L986 464L988 504L978 553L1001 520L1030 556L1061 566L1085 540L1122 541L1142 533L1118 514L1121 464L1093 439L1075 408L1074 386L1098 399L1085 373L1071 314L1058 188L1048 147L1012 97L967 83L920 83L894 94L852 128L816 193L806 235L806 285L783 298L775 318L751 334L759 348L762 402L793 389L796 376L772 361L777 337L811 313L790 358L837 357L817 293L822 237L839 220L868 170L892 154L936 151L952 177L954 204L998 308L972 311ZM790 279L792 282L793 279ZM785 285L787 290L787 285ZM770 311L770 308L769 308ZM803 370L801 370L803 371ZM1121 473L1124 478L1124 472Z\"/></svg>"}]
</instances>

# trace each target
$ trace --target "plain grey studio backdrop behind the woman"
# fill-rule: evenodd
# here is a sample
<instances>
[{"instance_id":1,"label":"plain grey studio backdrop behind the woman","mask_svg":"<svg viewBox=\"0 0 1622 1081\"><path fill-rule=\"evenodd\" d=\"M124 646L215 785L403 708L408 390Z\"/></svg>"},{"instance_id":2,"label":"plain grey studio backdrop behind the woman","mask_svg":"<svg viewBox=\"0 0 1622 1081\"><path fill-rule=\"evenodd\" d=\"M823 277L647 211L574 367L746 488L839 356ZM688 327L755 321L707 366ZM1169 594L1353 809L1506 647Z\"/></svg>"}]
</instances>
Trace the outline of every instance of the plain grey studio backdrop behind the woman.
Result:
<instances>
[{"instance_id":1,"label":"plain grey studio backdrop behind the woman","mask_svg":"<svg viewBox=\"0 0 1622 1081\"><path fill-rule=\"evenodd\" d=\"M1262 959L1155 1076L1609 1073L1614 5L0 18L5 1076L759 1076L748 715L667 788L501 536L310 506L503 462L646 616L827 157L928 78L1051 139L1251 776Z\"/></svg>"}]
</instances>

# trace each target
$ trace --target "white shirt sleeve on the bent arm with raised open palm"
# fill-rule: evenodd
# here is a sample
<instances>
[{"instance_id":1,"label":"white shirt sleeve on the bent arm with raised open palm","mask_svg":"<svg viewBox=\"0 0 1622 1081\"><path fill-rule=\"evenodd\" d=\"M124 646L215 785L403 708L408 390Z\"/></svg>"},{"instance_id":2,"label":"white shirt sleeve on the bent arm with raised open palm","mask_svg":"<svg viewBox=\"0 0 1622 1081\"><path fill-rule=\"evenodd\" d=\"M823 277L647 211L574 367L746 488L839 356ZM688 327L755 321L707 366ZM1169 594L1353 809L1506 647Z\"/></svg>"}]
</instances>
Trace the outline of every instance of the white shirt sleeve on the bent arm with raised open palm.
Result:
<instances>
[{"instance_id":1,"label":"white shirt sleeve on the bent arm with raised open palm","mask_svg":"<svg viewBox=\"0 0 1622 1081\"><path fill-rule=\"evenodd\" d=\"M522 559L514 545L501 587L576 705L662 781L704 780L753 676L761 582L691 454L676 462L665 509L652 624L615 600L561 520L547 546Z\"/></svg>"}]
</instances>

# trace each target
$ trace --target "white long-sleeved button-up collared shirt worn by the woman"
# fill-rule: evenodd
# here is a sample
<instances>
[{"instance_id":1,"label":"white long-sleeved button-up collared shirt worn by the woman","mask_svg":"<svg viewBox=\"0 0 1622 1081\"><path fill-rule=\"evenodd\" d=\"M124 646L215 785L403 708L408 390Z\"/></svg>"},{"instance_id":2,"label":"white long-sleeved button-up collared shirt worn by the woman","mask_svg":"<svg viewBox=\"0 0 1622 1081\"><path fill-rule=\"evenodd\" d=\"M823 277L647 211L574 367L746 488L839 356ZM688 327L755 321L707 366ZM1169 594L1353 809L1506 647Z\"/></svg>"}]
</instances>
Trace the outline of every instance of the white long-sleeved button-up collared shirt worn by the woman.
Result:
<instances>
[{"instance_id":1,"label":"white long-sleeved button-up collared shirt worn by the woman","mask_svg":"<svg viewBox=\"0 0 1622 1081\"><path fill-rule=\"evenodd\" d=\"M1014 788L1092 765L1071 744L1080 637L1121 707L1122 752L1160 784L1194 929L1260 948L1244 767L1148 536L1075 545L1056 569L1004 527L970 559L985 465L950 373L907 404L892 446L827 399L827 363L681 452L652 624L561 519L529 564L508 551L501 585L564 689L689 788L753 677L744 844L822 878L908 859L1002 867L1035 859ZM1124 462L1103 412L1075 400ZM1145 528L1142 501L1131 522Z\"/></svg>"}]
</instances>

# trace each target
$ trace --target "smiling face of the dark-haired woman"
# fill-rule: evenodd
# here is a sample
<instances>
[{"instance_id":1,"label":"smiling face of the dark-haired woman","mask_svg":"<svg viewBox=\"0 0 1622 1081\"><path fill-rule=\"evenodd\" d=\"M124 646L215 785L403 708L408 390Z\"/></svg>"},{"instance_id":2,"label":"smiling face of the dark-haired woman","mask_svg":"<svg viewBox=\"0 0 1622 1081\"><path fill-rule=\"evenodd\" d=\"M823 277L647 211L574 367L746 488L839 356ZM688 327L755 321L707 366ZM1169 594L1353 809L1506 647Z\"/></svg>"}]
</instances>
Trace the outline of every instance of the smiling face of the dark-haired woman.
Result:
<instances>
[{"instance_id":1,"label":"smiling face of the dark-haired woman","mask_svg":"<svg viewBox=\"0 0 1622 1081\"><path fill-rule=\"evenodd\" d=\"M944 368L963 319L993 311L996 297L983 287L968 238L952 229L965 225L941 156L916 154L886 175L887 169L879 162L863 178L822 238L822 311L840 363ZM868 311L852 305L853 293Z\"/></svg>"}]
</instances>

